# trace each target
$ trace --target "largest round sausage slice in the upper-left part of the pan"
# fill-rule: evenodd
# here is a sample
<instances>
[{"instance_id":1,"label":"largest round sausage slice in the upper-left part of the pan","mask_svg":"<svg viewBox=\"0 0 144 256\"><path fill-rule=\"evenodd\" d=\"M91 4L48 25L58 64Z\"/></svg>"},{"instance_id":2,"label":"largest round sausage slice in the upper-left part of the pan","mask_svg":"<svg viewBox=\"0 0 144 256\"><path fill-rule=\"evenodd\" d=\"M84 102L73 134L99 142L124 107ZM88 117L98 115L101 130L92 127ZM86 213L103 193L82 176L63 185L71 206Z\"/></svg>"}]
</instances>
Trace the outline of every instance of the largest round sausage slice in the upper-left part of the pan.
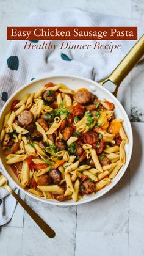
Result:
<instances>
[{"instance_id":1,"label":"largest round sausage slice in the upper-left part of the pan","mask_svg":"<svg viewBox=\"0 0 144 256\"><path fill-rule=\"evenodd\" d=\"M22 126L29 125L29 123L31 123L33 119L34 115L31 111L28 110L24 110L23 112L21 112L20 115L18 115L18 122L20 122Z\"/></svg>"}]
</instances>

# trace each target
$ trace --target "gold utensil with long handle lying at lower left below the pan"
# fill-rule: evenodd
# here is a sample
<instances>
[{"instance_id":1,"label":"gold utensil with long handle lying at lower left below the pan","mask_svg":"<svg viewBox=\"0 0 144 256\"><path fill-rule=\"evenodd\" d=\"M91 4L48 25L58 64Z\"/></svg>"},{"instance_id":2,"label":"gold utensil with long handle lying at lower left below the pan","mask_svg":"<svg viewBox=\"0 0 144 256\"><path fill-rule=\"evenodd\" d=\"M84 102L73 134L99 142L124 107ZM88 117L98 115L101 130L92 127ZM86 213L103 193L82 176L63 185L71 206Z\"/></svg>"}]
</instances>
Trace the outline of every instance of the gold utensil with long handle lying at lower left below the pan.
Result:
<instances>
[{"instance_id":1,"label":"gold utensil with long handle lying at lower left below the pan","mask_svg":"<svg viewBox=\"0 0 144 256\"><path fill-rule=\"evenodd\" d=\"M29 205L27 205L20 196L18 196L8 185L7 185L7 179L4 177L4 175L1 174L0 172L0 188L5 188L7 189L10 194L12 194L13 197L15 197L15 199L20 203L20 205L24 208L24 210L27 211L27 213L31 216L32 219L34 219L34 221L37 223L37 225L40 227L40 229L43 230L43 232L45 232L45 234L47 236L49 236L49 238L53 238L56 233L54 232L54 230L51 229L51 227L49 227L48 224L46 224L45 221L43 221L43 219L40 218L40 216L37 215L37 213L35 213L35 211L33 211Z\"/></svg>"}]
</instances>

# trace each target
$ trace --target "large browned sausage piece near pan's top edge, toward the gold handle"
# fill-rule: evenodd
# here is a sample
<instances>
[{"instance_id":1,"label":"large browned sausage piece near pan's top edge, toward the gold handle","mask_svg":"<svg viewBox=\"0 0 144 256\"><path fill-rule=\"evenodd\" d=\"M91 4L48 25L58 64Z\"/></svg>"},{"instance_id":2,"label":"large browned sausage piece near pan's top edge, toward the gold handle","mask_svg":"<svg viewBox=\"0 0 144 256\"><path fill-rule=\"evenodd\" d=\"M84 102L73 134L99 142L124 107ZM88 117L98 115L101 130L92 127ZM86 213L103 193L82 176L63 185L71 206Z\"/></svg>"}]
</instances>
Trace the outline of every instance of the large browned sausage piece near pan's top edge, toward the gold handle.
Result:
<instances>
[{"instance_id":1,"label":"large browned sausage piece near pan's top edge, toward the gold handle","mask_svg":"<svg viewBox=\"0 0 144 256\"><path fill-rule=\"evenodd\" d=\"M92 93L88 90L79 90L76 92L76 101L79 104L88 104L92 100Z\"/></svg>"}]
</instances>

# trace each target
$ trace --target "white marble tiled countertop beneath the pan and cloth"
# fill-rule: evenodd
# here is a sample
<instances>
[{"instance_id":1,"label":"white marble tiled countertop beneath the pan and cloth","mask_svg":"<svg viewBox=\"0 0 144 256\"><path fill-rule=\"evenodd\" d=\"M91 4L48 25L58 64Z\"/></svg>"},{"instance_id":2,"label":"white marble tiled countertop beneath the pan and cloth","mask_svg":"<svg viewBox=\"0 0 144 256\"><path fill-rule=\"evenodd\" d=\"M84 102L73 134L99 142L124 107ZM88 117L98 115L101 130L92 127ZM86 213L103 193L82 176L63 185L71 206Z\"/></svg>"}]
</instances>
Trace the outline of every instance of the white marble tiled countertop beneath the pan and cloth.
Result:
<instances>
[{"instance_id":1,"label":"white marble tiled countertop beneath the pan and cloth","mask_svg":"<svg viewBox=\"0 0 144 256\"><path fill-rule=\"evenodd\" d=\"M34 8L42 10L79 7L93 12L144 20L143 0L45 1L0 0L0 64L5 61L9 42L6 26L18 26ZM131 164L120 182L98 200L78 207L56 207L20 196L56 231L49 239L20 205L9 224L0 229L1 256L143 256L144 255L144 107L143 65L134 68L121 85L129 95L124 101L134 131ZM121 95L121 93L120 93ZM143 149L144 150L144 149Z\"/></svg>"}]
</instances>

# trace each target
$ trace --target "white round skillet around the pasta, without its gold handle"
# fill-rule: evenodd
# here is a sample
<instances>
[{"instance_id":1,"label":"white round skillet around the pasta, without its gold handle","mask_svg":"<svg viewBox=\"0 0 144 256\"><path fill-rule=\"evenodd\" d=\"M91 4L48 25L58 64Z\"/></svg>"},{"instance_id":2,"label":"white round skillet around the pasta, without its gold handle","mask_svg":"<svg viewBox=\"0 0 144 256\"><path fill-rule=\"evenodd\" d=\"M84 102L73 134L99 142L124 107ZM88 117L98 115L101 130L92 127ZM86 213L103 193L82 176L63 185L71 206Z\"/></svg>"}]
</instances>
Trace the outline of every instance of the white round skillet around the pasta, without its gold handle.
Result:
<instances>
[{"instance_id":1,"label":"white round skillet around the pasta, without its gold handle","mask_svg":"<svg viewBox=\"0 0 144 256\"><path fill-rule=\"evenodd\" d=\"M92 91L92 92L94 94L96 94L99 99L102 100L103 98L106 98L106 100L112 101L115 104L115 116L118 119L124 119L123 127L124 127L124 130L126 131L128 139L129 139L129 144L126 144L126 146L125 146L126 164L123 167L121 167L120 171L118 172L116 177L113 178L110 185L106 186L101 191L96 192L95 195L83 196L83 199L79 200L76 203L74 203L73 200L68 200L68 201L64 201L64 202L58 202L56 200L48 200L43 197L35 196L34 194L31 194L30 192L21 188L21 184L18 181L18 179L16 178L15 174L13 174L12 169L5 164L5 158L4 158L4 154L2 153L2 147L0 147L1 165L2 165L3 169L5 170L5 172L7 173L7 175L10 177L10 179L14 181L16 187L18 187L21 191L23 191L28 196L31 196L33 199L39 200L41 202L50 203L52 205L67 206L67 205L80 205L82 203L87 203L92 200L98 199L99 197L106 194L106 192L108 192L110 189L112 189L113 186L115 186L118 183L118 181L120 180L120 178L123 176L124 172L126 171L126 169L128 167L129 161L131 159L132 145L133 145L131 123L129 122L129 118L128 118L128 115L126 114L126 111L124 110L121 103L117 100L117 98L115 98L112 95L112 93L110 93L108 90L106 90L103 86L99 86L99 84L97 82L94 82L90 79L82 78L81 76L73 76L73 75L57 75L57 76L48 76L46 78L41 78L41 79L35 79L35 80L29 82L29 84L25 84L23 87L16 90L16 92L13 93L13 95L9 98L9 100L7 100L7 102L5 103L5 105L2 108L1 113L0 113L0 120L1 120L0 130L2 128L2 122L4 120L5 115L10 111L10 106L12 104L12 101L14 99L21 100L21 98L23 98L26 93L37 92L38 87L43 86L48 82L54 82L56 84L61 82L61 83L65 84L65 86L70 87L73 90L77 90L81 87L85 87L88 90L94 89L95 92L94 91Z\"/></svg>"}]
</instances>

